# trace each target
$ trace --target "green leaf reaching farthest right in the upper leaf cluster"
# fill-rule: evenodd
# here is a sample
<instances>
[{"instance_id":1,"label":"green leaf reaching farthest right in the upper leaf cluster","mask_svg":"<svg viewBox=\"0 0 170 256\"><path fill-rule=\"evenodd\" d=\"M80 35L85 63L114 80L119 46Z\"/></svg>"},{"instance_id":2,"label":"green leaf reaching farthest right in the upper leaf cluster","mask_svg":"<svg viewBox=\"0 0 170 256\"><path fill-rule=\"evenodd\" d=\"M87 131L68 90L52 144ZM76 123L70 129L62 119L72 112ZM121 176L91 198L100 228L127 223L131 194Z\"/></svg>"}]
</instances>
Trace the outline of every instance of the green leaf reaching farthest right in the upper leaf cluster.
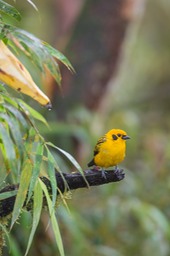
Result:
<instances>
[{"instance_id":1,"label":"green leaf reaching farthest right in the upper leaf cluster","mask_svg":"<svg viewBox=\"0 0 170 256\"><path fill-rule=\"evenodd\" d=\"M61 61L70 71L75 72L70 61L64 56L64 54L62 54L61 52L59 52L57 49L53 48L51 45L49 45L46 42L43 42L43 45L46 48L46 50L49 52L49 54L51 54L54 58Z\"/></svg>"}]
</instances>

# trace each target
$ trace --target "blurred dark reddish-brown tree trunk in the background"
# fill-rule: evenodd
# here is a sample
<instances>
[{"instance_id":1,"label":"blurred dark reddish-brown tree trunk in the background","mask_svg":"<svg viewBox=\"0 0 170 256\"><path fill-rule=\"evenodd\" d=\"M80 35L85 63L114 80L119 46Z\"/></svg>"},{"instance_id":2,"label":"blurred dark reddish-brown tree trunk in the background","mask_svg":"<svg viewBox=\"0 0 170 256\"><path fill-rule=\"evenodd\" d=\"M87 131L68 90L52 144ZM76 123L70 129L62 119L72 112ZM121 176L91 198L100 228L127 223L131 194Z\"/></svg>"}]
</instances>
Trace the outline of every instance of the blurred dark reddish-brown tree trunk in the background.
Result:
<instances>
[{"instance_id":1,"label":"blurred dark reddish-brown tree trunk in the background","mask_svg":"<svg viewBox=\"0 0 170 256\"><path fill-rule=\"evenodd\" d=\"M76 21L73 17L70 18L72 30L74 28L72 33L71 25L67 22L61 29L57 47L64 50L76 74L62 68L63 98L57 87L53 87L53 102L54 105L57 104L60 117L64 117L68 110L79 104L90 110L95 110L100 105L118 65L130 20L125 12L128 2L129 0L87 0L83 7L79 6L79 11L82 10L79 18ZM62 3L63 15L58 20L61 24L64 22L64 6L66 8L67 5ZM78 17L78 10L75 15ZM72 35L67 43L66 33Z\"/></svg>"}]
</instances>

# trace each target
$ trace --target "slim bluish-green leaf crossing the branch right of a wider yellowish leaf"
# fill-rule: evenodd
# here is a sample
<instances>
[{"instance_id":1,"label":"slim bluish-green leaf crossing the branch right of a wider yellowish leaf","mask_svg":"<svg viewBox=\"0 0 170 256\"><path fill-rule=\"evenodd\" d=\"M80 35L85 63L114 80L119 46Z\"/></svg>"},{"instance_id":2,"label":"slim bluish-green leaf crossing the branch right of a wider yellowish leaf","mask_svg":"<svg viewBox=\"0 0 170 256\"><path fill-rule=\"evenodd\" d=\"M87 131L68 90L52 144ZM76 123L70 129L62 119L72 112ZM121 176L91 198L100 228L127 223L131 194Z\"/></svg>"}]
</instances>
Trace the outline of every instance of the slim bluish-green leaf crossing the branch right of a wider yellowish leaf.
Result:
<instances>
[{"instance_id":1,"label":"slim bluish-green leaf crossing the branch right of a wider yellowish leaf","mask_svg":"<svg viewBox=\"0 0 170 256\"><path fill-rule=\"evenodd\" d=\"M40 167L41 167L41 163L43 160L43 152L44 152L44 145L42 143L38 143L37 149L36 149L36 155L35 155L35 159L34 159L34 163L33 163L34 167L32 170L32 177L31 177L31 182L30 182L30 186L29 186L27 202L30 200L30 198L32 196L34 186L37 182L37 178L40 173L40 169L41 169Z\"/></svg>"}]
</instances>

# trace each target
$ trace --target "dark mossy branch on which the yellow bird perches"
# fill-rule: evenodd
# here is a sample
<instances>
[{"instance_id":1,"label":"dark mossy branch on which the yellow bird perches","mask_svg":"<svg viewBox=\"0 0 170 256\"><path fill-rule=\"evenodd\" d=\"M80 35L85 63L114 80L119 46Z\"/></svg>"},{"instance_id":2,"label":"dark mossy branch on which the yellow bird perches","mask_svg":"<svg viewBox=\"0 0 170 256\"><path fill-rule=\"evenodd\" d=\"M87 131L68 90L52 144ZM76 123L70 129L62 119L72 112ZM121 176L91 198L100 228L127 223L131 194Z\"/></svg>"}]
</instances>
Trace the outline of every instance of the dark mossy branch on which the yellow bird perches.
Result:
<instances>
[{"instance_id":1,"label":"dark mossy branch on which the yellow bird perches","mask_svg":"<svg viewBox=\"0 0 170 256\"><path fill-rule=\"evenodd\" d=\"M105 177L104 177L105 176ZM101 171L96 170L86 170L84 171L84 177L80 173L58 173L56 172L57 188L61 193L68 190L74 190L78 188L100 186L106 183L117 182L124 179L125 174L123 170L109 170L105 171L105 175L102 175ZM86 180L85 180L86 179ZM41 180L47 186L49 193L52 193L51 183L46 177L41 177ZM8 185L2 190L0 194L7 191L18 190L19 185ZM59 193L59 192L58 192ZM16 196L11 196L9 198L0 200L0 218L6 217L12 213ZM26 204L24 205L26 206ZM29 210L31 210L32 204L29 204Z\"/></svg>"}]
</instances>

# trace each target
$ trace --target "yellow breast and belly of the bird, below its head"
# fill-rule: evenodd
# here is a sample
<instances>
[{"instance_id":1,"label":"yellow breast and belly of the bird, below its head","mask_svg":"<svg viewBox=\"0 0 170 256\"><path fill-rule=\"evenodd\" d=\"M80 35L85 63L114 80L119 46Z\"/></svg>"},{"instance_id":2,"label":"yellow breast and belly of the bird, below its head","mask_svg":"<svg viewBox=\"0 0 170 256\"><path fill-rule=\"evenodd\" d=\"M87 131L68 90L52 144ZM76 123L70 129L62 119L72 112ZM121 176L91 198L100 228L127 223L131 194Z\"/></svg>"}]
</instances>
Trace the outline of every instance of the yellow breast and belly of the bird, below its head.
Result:
<instances>
[{"instance_id":1,"label":"yellow breast and belly of the bird, below its head","mask_svg":"<svg viewBox=\"0 0 170 256\"><path fill-rule=\"evenodd\" d=\"M125 141L113 141L107 139L100 145L98 154L94 156L94 162L100 167L116 166L123 161L125 157Z\"/></svg>"}]
</instances>

